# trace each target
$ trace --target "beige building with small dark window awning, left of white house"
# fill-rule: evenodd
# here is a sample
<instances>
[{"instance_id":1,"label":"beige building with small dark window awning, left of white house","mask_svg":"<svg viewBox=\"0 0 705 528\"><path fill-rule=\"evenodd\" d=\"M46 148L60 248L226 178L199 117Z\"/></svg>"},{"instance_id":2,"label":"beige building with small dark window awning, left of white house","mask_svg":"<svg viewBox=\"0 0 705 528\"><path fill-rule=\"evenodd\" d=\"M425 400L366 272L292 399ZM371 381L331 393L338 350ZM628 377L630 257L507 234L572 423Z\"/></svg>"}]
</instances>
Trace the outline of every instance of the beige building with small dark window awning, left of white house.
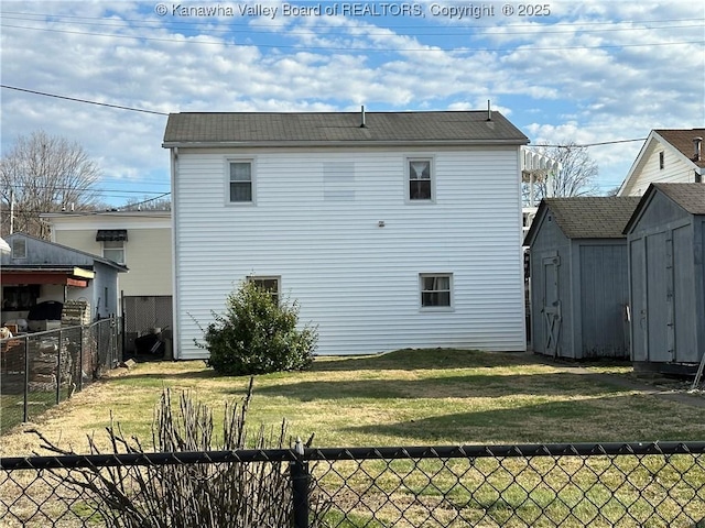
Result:
<instances>
[{"instance_id":1,"label":"beige building with small dark window awning, left of white house","mask_svg":"<svg viewBox=\"0 0 705 528\"><path fill-rule=\"evenodd\" d=\"M171 211L55 212L42 215L52 241L126 264L120 277L124 349L153 328L170 329L172 318Z\"/></svg>"}]
</instances>

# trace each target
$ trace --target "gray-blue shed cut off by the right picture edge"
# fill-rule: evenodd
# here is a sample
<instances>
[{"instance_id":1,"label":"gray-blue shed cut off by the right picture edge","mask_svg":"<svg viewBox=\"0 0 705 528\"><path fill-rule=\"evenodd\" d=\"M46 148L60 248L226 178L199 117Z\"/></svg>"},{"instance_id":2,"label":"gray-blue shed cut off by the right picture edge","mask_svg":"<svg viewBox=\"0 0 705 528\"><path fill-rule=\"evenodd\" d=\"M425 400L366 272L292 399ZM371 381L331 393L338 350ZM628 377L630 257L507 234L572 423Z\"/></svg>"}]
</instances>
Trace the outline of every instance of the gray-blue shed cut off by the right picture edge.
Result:
<instances>
[{"instance_id":1,"label":"gray-blue shed cut off by the right picture edge","mask_svg":"<svg viewBox=\"0 0 705 528\"><path fill-rule=\"evenodd\" d=\"M705 353L705 184L651 184L625 228L631 359L670 371Z\"/></svg>"}]
</instances>

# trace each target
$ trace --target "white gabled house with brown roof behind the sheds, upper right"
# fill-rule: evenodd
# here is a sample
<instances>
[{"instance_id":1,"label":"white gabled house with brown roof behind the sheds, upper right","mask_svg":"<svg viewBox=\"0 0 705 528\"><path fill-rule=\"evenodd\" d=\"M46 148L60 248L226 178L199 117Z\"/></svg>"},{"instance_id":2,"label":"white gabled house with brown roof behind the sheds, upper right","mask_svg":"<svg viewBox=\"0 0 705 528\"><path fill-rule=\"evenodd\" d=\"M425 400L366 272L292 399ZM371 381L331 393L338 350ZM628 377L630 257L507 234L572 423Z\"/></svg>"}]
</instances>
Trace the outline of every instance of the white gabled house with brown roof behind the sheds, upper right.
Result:
<instances>
[{"instance_id":1,"label":"white gabled house with brown roof behind the sheds, upper right","mask_svg":"<svg viewBox=\"0 0 705 528\"><path fill-rule=\"evenodd\" d=\"M649 184L703 183L705 129L652 130L618 196L642 196Z\"/></svg>"}]
</instances>

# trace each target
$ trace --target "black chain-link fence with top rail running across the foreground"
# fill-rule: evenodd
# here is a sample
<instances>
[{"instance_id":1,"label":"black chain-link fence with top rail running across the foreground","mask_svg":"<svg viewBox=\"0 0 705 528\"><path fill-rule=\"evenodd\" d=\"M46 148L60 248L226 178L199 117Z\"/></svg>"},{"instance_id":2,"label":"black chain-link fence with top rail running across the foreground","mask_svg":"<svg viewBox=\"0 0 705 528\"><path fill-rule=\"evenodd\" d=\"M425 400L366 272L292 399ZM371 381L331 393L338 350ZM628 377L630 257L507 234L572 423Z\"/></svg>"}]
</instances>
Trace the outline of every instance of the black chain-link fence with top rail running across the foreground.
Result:
<instances>
[{"instance_id":1,"label":"black chain-link fence with top rail running across the foreground","mask_svg":"<svg viewBox=\"0 0 705 528\"><path fill-rule=\"evenodd\" d=\"M0 469L3 526L705 527L705 442L297 443L12 458ZM254 484L267 479L263 494Z\"/></svg>"}]
</instances>

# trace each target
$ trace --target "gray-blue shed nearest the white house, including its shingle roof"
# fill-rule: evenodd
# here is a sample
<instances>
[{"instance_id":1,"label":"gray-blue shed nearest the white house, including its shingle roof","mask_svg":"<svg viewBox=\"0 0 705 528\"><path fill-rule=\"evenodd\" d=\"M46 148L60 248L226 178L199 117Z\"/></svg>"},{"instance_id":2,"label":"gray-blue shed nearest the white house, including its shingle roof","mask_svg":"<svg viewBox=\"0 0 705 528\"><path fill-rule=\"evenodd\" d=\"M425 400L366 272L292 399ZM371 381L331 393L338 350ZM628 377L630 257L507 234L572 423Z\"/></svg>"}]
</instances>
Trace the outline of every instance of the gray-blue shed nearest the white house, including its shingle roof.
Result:
<instances>
[{"instance_id":1,"label":"gray-blue shed nearest the white house, including its shingle roof","mask_svg":"<svg viewBox=\"0 0 705 528\"><path fill-rule=\"evenodd\" d=\"M628 358L627 238L639 197L546 198L527 234L534 352Z\"/></svg>"}]
</instances>

